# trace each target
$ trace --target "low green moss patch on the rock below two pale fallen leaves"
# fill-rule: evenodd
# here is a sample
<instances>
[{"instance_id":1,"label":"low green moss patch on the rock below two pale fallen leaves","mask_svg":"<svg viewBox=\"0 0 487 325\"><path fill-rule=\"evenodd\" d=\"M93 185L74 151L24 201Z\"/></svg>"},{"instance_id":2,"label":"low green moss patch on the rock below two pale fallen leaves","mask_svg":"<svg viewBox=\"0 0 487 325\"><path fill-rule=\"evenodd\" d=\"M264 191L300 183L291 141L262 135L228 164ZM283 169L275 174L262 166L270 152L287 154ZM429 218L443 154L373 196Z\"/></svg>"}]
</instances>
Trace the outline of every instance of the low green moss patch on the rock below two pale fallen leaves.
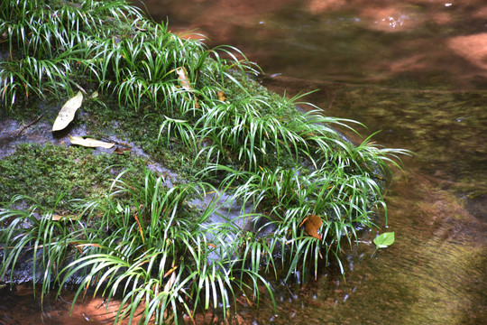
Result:
<instances>
[{"instance_id":1,"label":"low green moss patch on the rock below two pale fallen leaves","mask_svg":"<svg viewBox=\"0 0 487 325\"><path fill-rule=\"evenodd\" d=\"M73 200L94 200L107 192L120 172L127 168L142 172L143 165L128 154L95 154L92 149L51 143L21 144L14 154L0 160L0 201L23 195L46 208L73 209ZM66 194L56 205L61 193Z\"/></svg>"}]
</instances>

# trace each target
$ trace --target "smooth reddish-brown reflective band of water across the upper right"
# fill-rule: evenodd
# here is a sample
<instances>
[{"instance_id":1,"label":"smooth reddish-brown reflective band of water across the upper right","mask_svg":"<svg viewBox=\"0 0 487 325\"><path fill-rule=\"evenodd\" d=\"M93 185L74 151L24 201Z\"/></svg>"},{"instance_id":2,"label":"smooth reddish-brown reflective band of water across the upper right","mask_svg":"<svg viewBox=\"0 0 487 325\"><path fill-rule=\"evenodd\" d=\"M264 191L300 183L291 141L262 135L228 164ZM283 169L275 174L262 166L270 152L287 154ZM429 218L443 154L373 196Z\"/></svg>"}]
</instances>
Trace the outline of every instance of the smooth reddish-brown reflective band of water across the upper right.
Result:
<instances>
[{"instance_id":1,"label":"smooth reddish-brown reflective band of water across the upper right","mask_svg":"<svg viewBox=\"0 0 487 325\"><path fill-rule=\"evenodd\" d=\"M173 31L232 44L303 79L478 87L487 77L482 0L145 0ZM169 16L169 17L168 17ZM481 86L482 87L482 86Z\"/></svg>"}]
</instances>

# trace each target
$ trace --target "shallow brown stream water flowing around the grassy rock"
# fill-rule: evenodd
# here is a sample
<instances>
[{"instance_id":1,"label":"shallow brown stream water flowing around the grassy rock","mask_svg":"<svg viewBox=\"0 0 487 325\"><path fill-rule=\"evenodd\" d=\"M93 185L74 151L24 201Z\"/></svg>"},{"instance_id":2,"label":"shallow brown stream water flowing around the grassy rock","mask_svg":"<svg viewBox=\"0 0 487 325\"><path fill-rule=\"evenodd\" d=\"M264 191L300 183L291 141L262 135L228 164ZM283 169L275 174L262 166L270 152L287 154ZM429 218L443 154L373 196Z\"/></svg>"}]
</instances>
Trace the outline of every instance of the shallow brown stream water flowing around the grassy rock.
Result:
<instances>
[{"instance_id":1,"label":"shallow brown stream water flowing around the grassy rock","mask_svg":"<svg viewBox=\"0 0 487 325\"><path fill-rule=\"evenodd\" d=\"M386 194L396 242L372 233L345 252L346 275L276 284L277 311L238 302L241 324L487 323L487 4L483 0L145 0L172 32L205 35L257 62L262 84L327 116L357 120L406 148ZM197 36L194 36L197 37ZM306 108L306 107L305 107ZM16 293L21 306L30 295ZM0 298L8 306L7 298ZM69 299L12 323L106 323L102 301ZM2 307L8 315L8 307ZM33 315L33 316L32 316ZM106 319L106 317L105 317ZM15 322L16 321L16 322ZM199 315L199 323L219 323ZM7 323L7 322L5 322ZM10 323L10 322L8 322ZM108 320L109 323L109 320Z\"/></svg>"}]
</instances>

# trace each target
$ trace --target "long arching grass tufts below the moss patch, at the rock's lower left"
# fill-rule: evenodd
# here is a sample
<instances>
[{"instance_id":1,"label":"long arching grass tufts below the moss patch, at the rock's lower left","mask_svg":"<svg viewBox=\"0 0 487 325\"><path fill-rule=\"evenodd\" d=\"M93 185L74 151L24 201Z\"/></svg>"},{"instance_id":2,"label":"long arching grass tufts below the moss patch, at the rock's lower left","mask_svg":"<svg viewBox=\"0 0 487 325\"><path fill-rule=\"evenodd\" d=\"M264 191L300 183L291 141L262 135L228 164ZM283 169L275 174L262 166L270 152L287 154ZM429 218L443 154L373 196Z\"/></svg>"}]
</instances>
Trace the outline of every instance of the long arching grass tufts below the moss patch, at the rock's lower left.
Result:
<instances>
[{"instance_id":1,"label":"long arching grass tufts below the moss patch, at the rock's lower left","mask_svg":"<svg viewBox=\"0 0 487 325\"><path fill-rule=\"evenodd\" d=\"M191 315L200 304L207 309L221 302L227 308L235 287L258 292L264 284L270 290L260 274L239 265L242 257L235 255L235 247L225 245L231 228L201 226L215 213L215 203L199 215L188 214L185 199L204 196L208 189L214 190L204 183L168 188L146 171L142 184L117 178L109 195L80 205L76 218L58 220L52 210L36 208L1 211L0 239L9 245L0 274L5 277L20 260L32 259L41 295L66 283L78 283L74 302L90 286L107 303L121 294L115 322L132 321L140 305L139 322L164 322L168 311L177 322L180 312ZM250 286L245 274L253 279Z\"/></svg>"}]
</instances>

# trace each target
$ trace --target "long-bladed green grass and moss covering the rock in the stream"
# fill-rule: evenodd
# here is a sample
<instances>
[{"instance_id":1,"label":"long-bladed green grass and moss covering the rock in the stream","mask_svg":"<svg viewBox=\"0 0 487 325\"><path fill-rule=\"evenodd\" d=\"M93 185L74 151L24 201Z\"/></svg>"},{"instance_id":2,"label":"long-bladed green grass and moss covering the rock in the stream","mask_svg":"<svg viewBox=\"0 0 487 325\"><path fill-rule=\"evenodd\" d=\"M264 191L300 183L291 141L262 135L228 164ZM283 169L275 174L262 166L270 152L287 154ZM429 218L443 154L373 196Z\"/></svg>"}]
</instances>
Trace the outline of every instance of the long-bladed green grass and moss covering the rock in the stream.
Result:
<instances>
[{"instance_id":1,"label":"long-bladed green grass and moss covering the rock in the stream","mask_svg":"<svg viewBox=\"0 0 487 325\"><path fill-rule=\"evenodd\" d=\"M240 292L258 299L262 284L272 296L265 276L288 280L309 264L316 273L329 255L341 267L342 239L352 245L358 228L374 228L374 210L385 210L383 175L408 152L370 138L347 142L332 125L353 130L345 124L356 122L296 111L299 98L280 98L249 79L257 67L236 49L208 50L121 0L3 0L1 9L5 114L97 90L100 99L85 108L91 123L117 122L184 180L166 182L127 157L88 161L79 148L18 148L0 165L14 178L0 188L10 200L0 209L0 278L30 256L41 295L77 283L75 302L87 288L122 300L115 322L135 315L143 323L177 321L199 307L225 311ZM39 181L48 191L14 184L22 186L13 166L28 152L42 153L28 171L53 181L32 173L24 186ZM78 164L68 172L50 163L52 155ZM125 171L100 173L112 163ZM228 218L224 206L242 207L240 216ZM212 221L218 214L224 222Z\"/></svg>"}]
</instances>

